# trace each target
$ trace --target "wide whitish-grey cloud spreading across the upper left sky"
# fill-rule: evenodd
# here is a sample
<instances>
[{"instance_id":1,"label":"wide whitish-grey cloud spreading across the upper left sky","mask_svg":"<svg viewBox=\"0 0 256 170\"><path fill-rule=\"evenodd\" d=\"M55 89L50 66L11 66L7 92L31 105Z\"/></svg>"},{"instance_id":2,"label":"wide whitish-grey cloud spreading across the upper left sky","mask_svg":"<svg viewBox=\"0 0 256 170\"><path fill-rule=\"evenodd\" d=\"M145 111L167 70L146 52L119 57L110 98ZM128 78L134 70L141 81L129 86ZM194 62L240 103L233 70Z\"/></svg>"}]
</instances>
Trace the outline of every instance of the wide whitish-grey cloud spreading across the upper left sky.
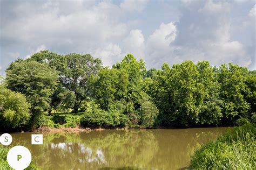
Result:
<instances>
[{"instance_id":1,"label":"wide whitish-grey cloud spreading across the upper left sky","mask_svg":"<svg viewBox=\"0 0 256 170\"><path fill-rule=\"evenodd\" d=\"M82 5L77 10L60 2L17 4L13 10L19 17L1 24L1 44L5 43L5 39L30 44L33 40L32 48L41 44L49 47L62 44L67 47L71 45L73 49L74 44L93 46L125 36L126 24L119 22L123 11L117 5L109 2L89 7L84 5L87 2L73 2L72 5L76 6L77 3ZM88 48L78 48L78 52L88 51Z\"/></svg>"}]
</instances>

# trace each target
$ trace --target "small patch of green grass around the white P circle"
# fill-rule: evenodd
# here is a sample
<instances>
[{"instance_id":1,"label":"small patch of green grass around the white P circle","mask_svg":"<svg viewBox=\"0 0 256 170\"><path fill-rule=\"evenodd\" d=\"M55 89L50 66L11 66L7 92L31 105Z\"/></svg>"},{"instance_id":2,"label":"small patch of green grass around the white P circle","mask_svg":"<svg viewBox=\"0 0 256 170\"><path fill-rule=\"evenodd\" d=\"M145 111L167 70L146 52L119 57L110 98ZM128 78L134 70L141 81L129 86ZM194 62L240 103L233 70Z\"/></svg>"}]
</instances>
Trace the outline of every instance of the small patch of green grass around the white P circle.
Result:
<instances>
[{"instance_id":1,"label":"small patch of green grass around the white P circle","mask_svg":"<svg viewBox=\"0 0 256 170\"><path fill-rule=\"evenodd\" d=\"M9 150L11 149L11 147L9 146L3 146L0 145L0 170L8 170L8 169L12 169L8 162L7 162L7 154L9 152ZM40 170L40 168L37 168L35 165L33 165L32 163L29 165L28 168L26 168L26 170Z\"/></svg>"}]
</instances>

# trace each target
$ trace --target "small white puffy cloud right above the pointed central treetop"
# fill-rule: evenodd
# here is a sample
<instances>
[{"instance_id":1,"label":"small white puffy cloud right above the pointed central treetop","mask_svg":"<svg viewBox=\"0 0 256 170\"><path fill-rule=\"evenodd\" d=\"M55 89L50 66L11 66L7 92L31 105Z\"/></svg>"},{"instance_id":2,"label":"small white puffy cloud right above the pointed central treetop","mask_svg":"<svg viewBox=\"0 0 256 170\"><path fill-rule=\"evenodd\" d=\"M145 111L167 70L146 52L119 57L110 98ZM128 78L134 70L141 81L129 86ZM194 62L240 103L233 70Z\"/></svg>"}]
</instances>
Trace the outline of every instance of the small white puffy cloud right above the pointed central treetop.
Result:
<instances>
[{"instance_id":1,"label":"small white puffy cloud right above the pointed central treetop","mask_svg":"<svg viewBox=\"0 0 256 170\"><path fill-rule=\"evenodd\" d=\"M141 30L131 30L129 36L124 39L125 53L131 53L137 58L144 58L144 36Z\"/></svg>"}]
</instances>

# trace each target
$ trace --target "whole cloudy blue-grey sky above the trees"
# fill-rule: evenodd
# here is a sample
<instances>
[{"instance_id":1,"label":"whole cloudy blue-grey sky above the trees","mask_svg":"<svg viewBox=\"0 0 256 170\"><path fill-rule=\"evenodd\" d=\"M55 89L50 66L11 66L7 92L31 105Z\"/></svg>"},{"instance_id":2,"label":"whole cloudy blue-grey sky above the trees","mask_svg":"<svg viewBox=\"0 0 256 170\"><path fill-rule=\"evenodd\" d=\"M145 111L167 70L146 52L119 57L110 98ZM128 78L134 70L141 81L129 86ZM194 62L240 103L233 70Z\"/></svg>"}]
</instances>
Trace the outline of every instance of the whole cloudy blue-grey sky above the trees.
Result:
<instances>
[{"instance_id":1,"label":"whole cloudy blue-grey sky above the trees","mask_svg":"<svg viewBox=\"0 0 256 170\"><path fill-rule=\"evenodd\" d=\"M148 69L208 60L254 70L255 24L253 0L0 0L0 75L44 49L110 67L131 53Z\"/></svg>"}]
</instances>

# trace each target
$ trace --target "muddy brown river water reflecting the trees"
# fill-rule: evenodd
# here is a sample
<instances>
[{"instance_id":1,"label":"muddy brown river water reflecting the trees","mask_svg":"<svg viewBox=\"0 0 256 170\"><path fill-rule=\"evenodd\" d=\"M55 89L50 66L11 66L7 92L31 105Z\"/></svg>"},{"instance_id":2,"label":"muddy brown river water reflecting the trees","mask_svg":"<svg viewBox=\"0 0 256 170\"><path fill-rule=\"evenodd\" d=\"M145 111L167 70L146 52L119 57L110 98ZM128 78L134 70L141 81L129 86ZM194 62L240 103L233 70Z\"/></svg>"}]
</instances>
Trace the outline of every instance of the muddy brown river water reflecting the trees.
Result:
<instances>
[{"instance_id":1,"label":"muddy brown river water reflecting the trees","mask_svg":"<svg viewBox=\"0 0 256 170\"><path fill-rule=\"evenodd\" d=\"M13 145L29 148L43 169L179 169L201 143L226 128L178 130L104 130L44 133L43 145L31 145L32 133L12 134Z\"/></svg>"}]
</instances>

